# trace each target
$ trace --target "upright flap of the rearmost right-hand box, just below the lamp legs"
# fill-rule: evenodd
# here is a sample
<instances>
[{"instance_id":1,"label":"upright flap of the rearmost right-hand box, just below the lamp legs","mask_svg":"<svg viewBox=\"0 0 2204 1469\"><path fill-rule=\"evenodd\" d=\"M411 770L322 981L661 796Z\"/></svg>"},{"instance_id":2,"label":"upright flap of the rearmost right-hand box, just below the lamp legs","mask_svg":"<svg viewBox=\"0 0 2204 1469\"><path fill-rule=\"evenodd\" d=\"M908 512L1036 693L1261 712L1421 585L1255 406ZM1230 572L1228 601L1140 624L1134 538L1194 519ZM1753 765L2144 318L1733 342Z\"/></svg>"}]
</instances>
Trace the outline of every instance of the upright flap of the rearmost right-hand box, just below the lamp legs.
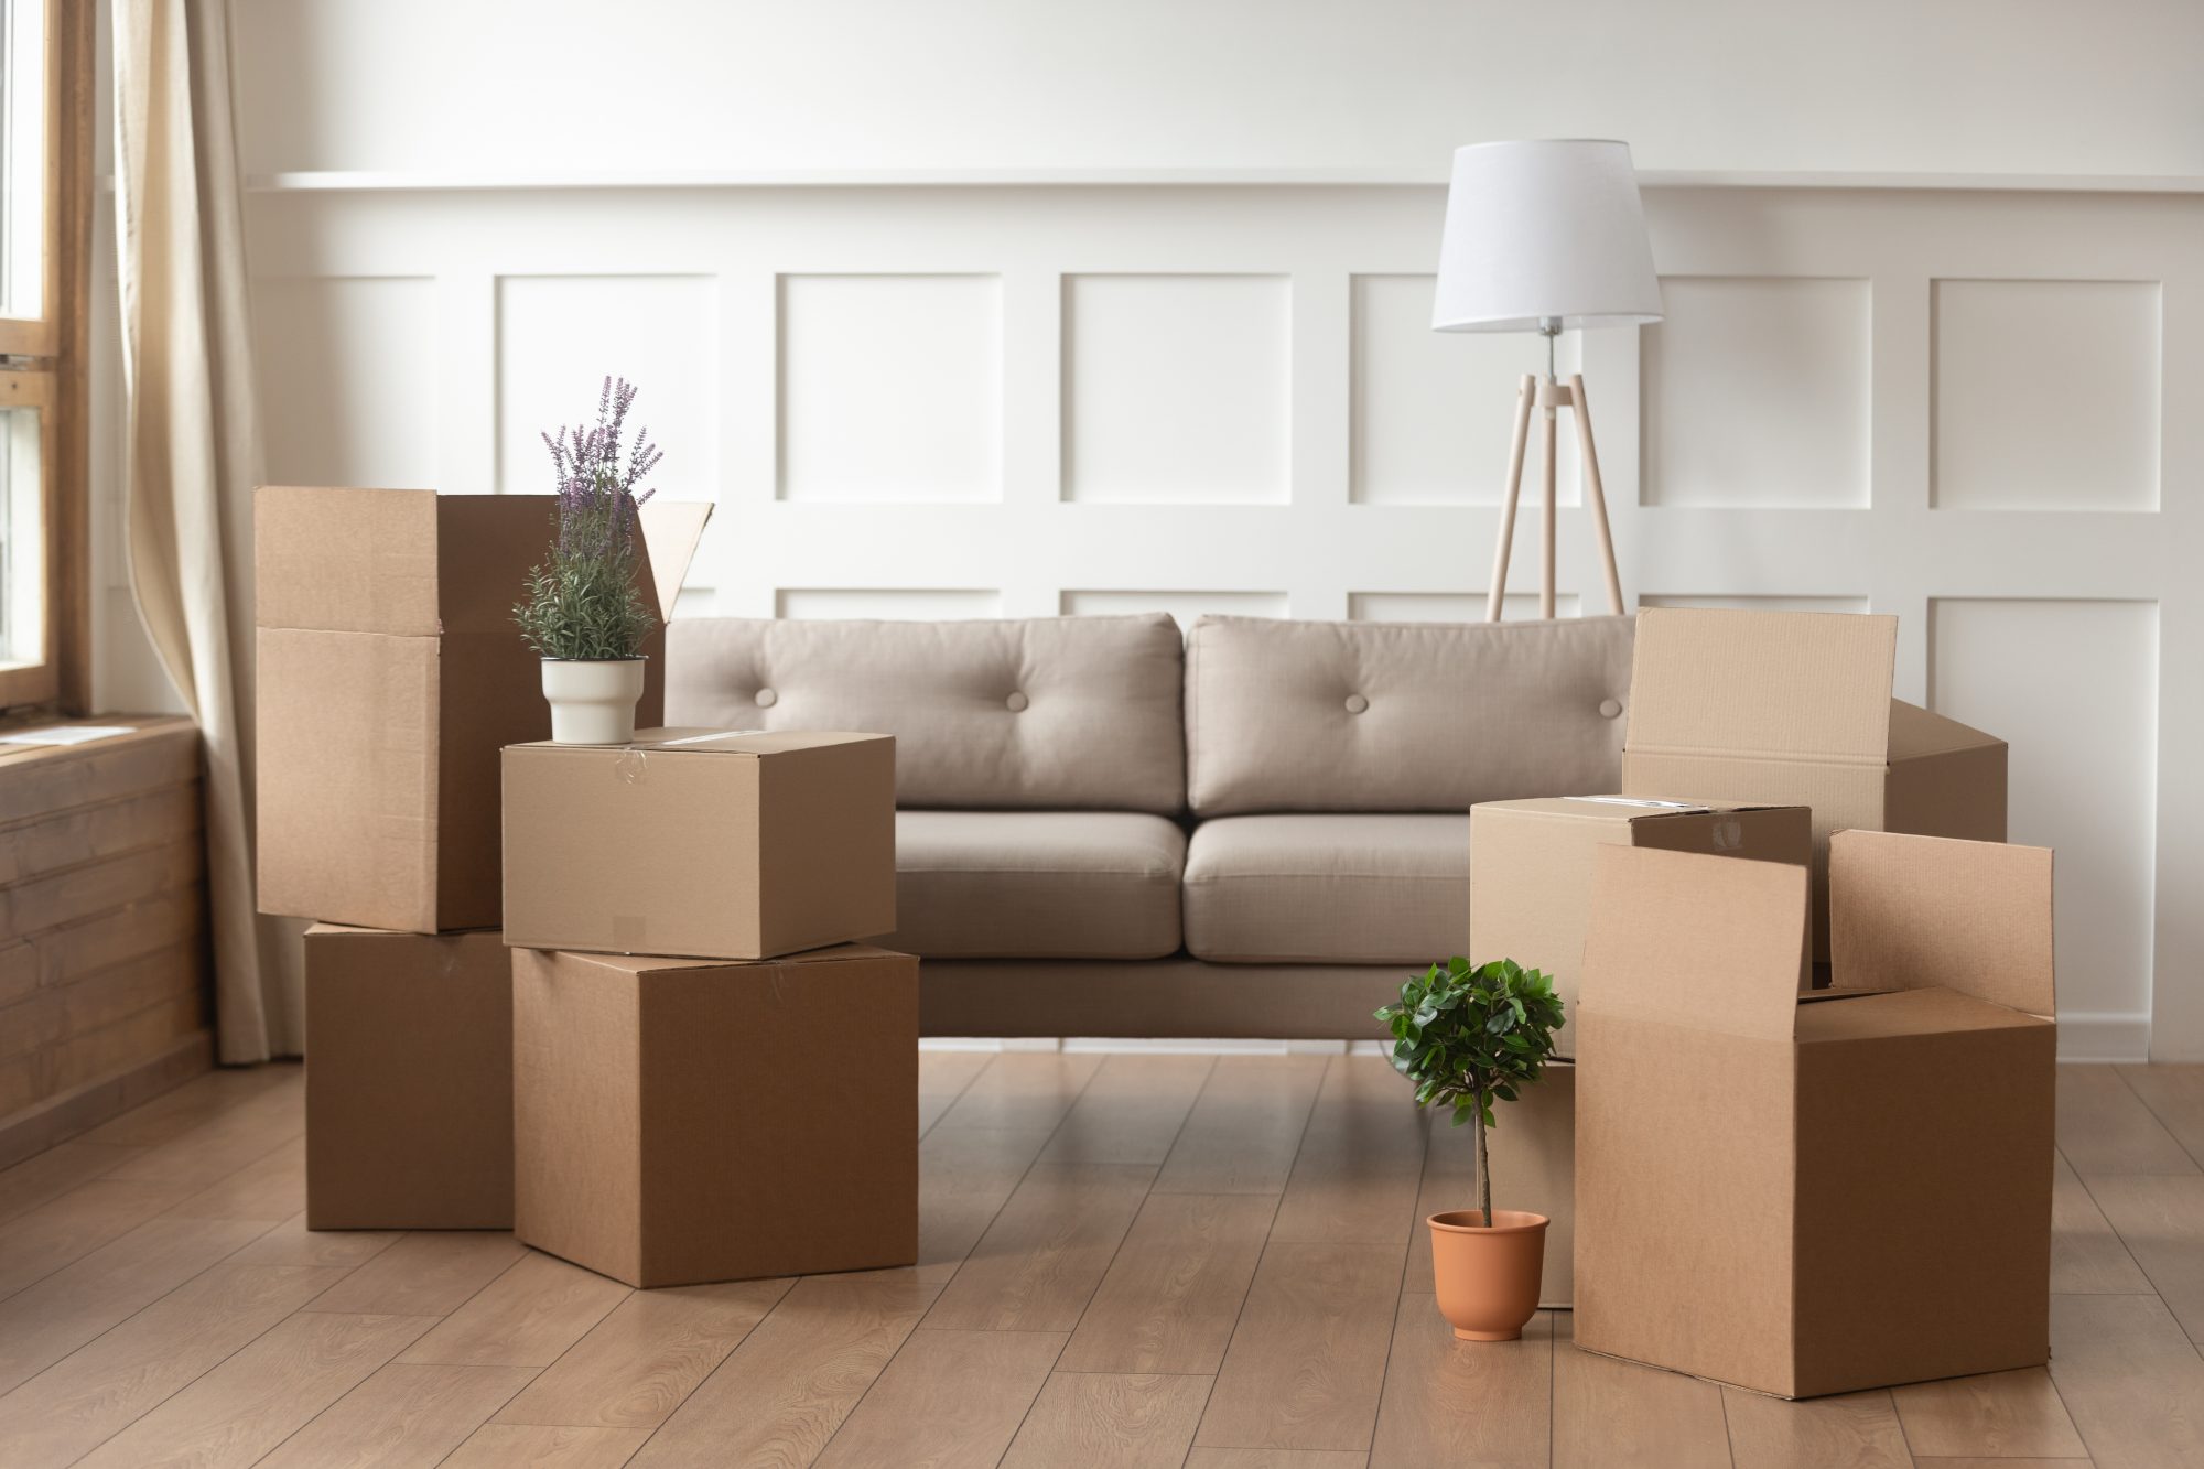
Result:
<instances>
[{"instance_id":1,"label":"upright flap of the rearmost right-hand box, just below the lamp legs","mask_svg":"<svg viewBox=\"0 0 2204 1469\"><path fill-rule=\"evenodd\" d=\"M1889 759L1898 618L1649 607L1638 613L1638 754Z\"/></svg>"}]
</instances>

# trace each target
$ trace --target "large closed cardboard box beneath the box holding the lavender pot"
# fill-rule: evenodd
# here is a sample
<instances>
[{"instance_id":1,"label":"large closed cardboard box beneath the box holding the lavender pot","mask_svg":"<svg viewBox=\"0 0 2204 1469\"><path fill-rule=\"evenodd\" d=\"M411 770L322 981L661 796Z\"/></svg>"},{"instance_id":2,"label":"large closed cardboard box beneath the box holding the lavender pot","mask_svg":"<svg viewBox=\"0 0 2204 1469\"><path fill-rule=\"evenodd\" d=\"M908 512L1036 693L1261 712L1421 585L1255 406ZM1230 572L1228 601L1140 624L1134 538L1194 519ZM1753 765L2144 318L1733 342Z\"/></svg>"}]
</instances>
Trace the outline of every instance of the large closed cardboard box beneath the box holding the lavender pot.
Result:
<instances>
[{"instance_id":1,"label":"large closed cardboard box beneath the box holding the lavender pot","mask_svg":"<svg viewBox=\"0 0 2204 1469\"><path fill-rule=\"evenodd\" d=\"M514 953L514 1233L630 1286L919 1253L919 962Z\"/></svg>"}]
</instances>

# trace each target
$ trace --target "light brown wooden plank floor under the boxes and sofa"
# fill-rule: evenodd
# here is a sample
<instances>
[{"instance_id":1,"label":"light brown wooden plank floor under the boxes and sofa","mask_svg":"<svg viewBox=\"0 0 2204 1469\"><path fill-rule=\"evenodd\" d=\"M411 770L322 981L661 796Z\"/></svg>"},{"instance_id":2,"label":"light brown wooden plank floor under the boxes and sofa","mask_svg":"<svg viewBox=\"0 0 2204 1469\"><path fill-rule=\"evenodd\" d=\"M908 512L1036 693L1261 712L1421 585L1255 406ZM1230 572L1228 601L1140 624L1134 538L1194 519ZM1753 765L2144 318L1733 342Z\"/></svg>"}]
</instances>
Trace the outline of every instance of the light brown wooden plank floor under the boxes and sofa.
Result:
<instances>
[{"instance_id":1,"label":"light brown wooden plank floor under the boxes and sofa","mask_svg":"<svg viewBox=\"0 0 2204 1469\"><path fill-rule=\"evenodd\" d=\"M1776 1403L1455 1345L1369 1057L923 1057L912 1270L633 1293L302 1229L300 1070L0 1173L0 1465L2204 1465L2204 1068L2065 1068L2050 1372Z\"/></svg>"}]
</instances>

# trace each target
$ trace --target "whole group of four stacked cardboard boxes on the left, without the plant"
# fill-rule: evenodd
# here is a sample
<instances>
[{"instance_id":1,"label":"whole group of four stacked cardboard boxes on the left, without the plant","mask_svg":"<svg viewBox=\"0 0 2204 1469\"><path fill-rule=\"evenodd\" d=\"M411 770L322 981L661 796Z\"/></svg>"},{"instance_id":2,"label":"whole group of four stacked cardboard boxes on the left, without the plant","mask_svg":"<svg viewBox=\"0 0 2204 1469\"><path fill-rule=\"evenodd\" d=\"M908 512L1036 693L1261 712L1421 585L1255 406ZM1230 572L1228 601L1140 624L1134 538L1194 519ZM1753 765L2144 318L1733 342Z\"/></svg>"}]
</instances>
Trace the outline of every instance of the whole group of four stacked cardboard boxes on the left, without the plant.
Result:
<instances>
[{"instance_id":1,"label":"whole group of four stacked cardboard boxes on the left, without the plant","mask_svg":"<svg viewBox=\"0 0 2204 1469\"><path fill-rule=\"evenodd\" d=\"M511 604L551 505L258 496L260 907L320 920L306 1224L514 1229L637 1286L908 1264L917 962L846 942L895 929L893 741L540 743ZM646 512L661 615L705 514Z\"/></svg>"}]
</instances>

